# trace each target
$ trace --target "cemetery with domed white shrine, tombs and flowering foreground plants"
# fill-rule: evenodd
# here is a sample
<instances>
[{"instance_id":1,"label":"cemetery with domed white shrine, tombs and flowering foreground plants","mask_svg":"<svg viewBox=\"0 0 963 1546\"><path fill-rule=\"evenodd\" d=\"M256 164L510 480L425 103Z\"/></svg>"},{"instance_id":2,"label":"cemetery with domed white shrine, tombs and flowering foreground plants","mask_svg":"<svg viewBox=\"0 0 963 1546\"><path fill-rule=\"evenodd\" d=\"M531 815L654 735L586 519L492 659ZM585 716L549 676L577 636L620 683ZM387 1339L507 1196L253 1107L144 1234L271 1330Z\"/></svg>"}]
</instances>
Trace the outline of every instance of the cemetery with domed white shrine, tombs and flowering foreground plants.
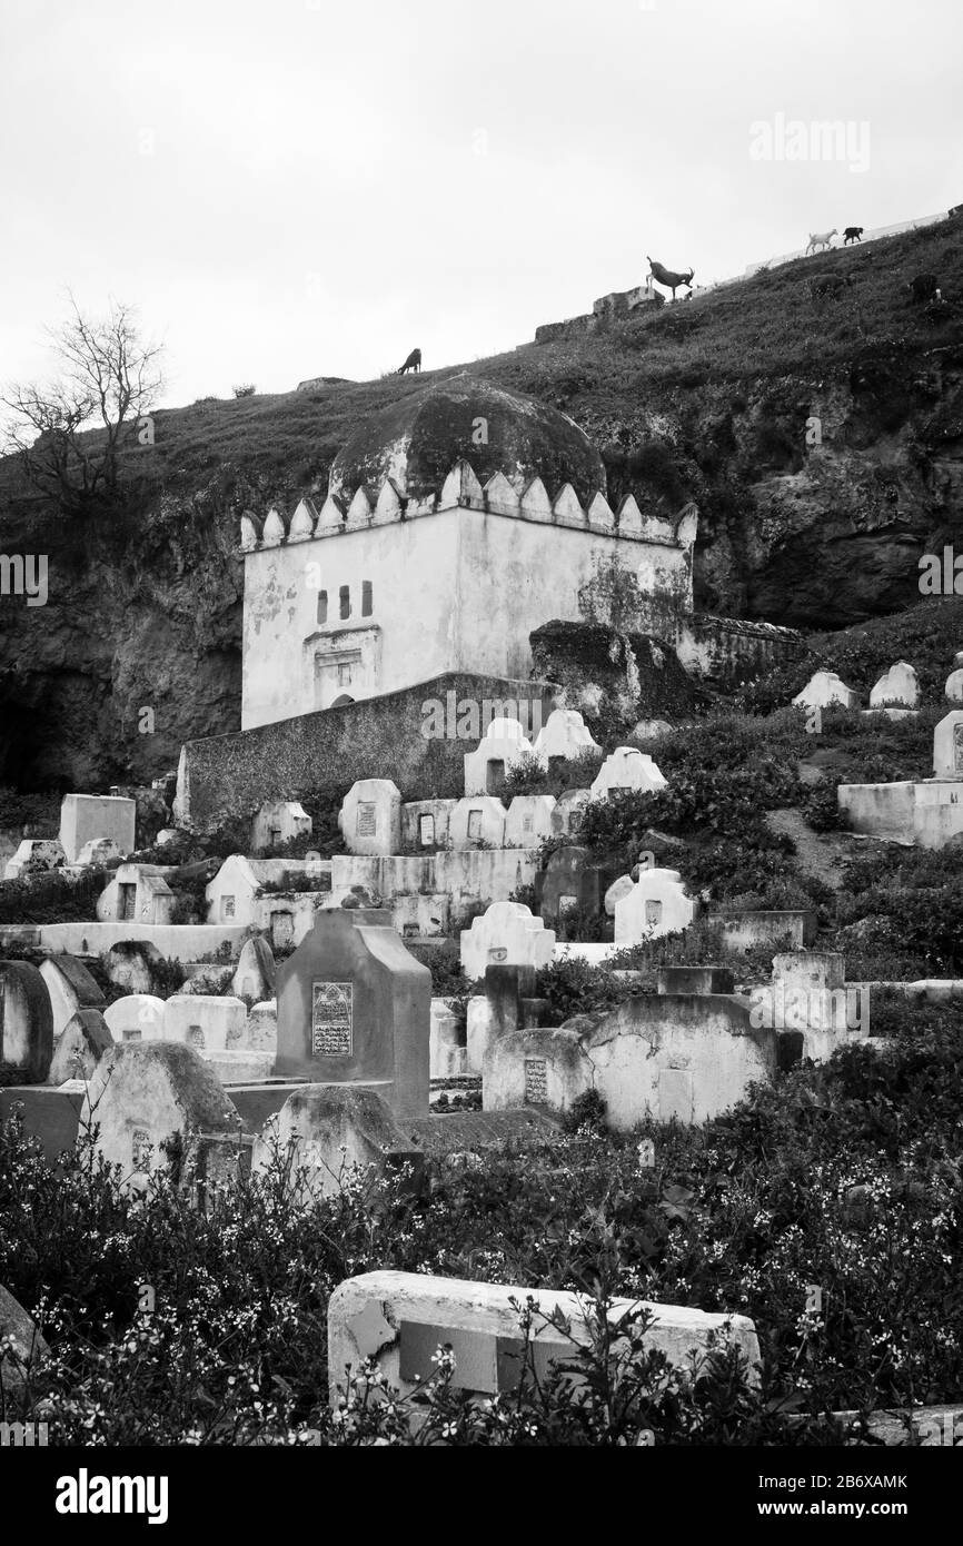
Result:
<instances>
[{"instance_id":1,"label":"cemetery with domed white shrine, tombs and flowering foreground plants","mask_svg":"<svg viewBox=\"0 0 963 1546\"><path fill-rule=\"evenodd\" d=\"M240 728L3 827L0 1385L57 1442L963 1411L963 611L702 614L699 507L607 478L419 382L238 512Z\"/></svg>"}]
</instances>

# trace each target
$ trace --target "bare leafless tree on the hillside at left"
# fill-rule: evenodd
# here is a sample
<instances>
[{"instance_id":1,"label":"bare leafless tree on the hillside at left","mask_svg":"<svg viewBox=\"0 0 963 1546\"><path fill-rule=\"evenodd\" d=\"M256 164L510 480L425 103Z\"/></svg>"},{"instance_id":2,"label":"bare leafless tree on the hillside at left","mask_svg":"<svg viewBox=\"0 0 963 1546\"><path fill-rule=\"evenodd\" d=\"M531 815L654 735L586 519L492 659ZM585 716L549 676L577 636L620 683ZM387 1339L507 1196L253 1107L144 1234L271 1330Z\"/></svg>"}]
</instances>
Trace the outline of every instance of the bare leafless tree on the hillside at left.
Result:
<instances>
[{"instance_id":1,"label":"bare leafless tree on the hillside at left","mask_svg":"<svg viewBox=\"0 0 963 1546\"><path fill-rule=\"evenodd\" d=\"M162 391L162 346L145 343L133 308L111 303L107 317L73 317L49 329L60 365L48 385L12 385L0 394L12 414L5 450L20 456L28 479L76 513L117 493L121 453L136 444L138 421Z\"/></svg>"}]
</instances>

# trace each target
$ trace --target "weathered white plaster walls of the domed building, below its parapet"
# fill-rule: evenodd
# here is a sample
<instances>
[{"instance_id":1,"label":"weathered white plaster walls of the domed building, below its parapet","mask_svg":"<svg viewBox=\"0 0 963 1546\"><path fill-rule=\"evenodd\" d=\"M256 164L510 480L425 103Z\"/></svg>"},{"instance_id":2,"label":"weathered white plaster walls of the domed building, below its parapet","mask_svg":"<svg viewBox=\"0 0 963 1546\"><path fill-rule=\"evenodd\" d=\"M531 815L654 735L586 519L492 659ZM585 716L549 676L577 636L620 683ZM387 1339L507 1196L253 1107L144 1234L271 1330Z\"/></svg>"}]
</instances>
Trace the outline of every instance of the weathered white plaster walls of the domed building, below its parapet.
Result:
<instances>
[{"instance_id":1,"label":"weathered white plaster walls of the domed building, below its parapet","mask_svg":"<svg viewBox=\"0 0 963 1546\"><path fill-rule=\"evenodd\" d=\"M671 614L691 612L691 546L617 538L550 515L456 507L260 547L244 570L241 724L252 730L445 669L524 677L535 628L553 618L631 628L651 595ZM351 680L339 682L339 657Z\"/></svg>"}]
</instances>

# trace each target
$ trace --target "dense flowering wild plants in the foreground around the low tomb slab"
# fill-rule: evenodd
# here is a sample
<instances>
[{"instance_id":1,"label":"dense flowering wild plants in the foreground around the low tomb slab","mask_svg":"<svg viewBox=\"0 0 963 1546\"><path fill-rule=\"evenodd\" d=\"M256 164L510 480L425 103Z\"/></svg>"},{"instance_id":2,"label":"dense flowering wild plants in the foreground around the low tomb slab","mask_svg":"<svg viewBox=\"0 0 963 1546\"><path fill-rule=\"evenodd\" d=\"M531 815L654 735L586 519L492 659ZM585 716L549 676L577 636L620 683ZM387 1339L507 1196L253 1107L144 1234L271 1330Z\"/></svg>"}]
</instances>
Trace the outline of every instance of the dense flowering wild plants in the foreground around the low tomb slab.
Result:
<instances>
[{"instance_id":1,"label":"dense flowering wild plants in the foreground around the low tomb slab","mask_svg":"<svg viewBox=\"0 0 963 1546\"><path fill-rule=\"evenodd\" d=\"M601 1356L600 1388L634 1391L614 1427L589 1421L563 1381L521 1401L524 1438L509 1424L499 1439L442 1377L428 1415L448 1444L634 1442L638 1429L657 1442L815 1442L833 1410L958 1401L963 1011L881 1000L875 1028L889 1050L839 1051L702 1127L615 1138L586 1110L573 1135L439 1169L422 1197L354 1173L300 1207L272 1175L198 1212L168 1177L147 1201L125 1197L83 1146L51 1170L8 1122L0 1280L56 1354L29 1410L60 1444L291 1442L306 1429L326 1444L411 1442L411 1408L379 1407L363 1373L342 1413L326 1408L329 1294L379 1268L756 1322L762 1387L730 1367L728 1408L711 1364L705 1384L683 1371L669 1401L641 1337L623 1364ZM640 1167L643 1135L654 1169ZM138 1314L142 1282L151 1316ZM819 1311L807 1309L813 1283Z\"/></svg>"}]
</instances>

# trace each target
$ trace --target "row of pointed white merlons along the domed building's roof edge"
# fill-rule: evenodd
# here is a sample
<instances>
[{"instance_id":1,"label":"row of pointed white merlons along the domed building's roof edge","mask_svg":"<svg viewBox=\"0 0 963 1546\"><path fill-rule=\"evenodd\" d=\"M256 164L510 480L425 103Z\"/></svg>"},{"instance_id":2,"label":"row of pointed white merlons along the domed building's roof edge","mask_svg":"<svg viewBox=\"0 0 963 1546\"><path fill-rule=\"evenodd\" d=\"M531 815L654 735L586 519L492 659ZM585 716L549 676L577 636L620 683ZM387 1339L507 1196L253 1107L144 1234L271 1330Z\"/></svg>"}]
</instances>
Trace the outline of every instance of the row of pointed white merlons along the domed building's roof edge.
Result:
<instances>
[{"instance_id":1,"label":"row of pointed white merlons along the domed building's roof edge","mask_svg":"<svg viewBox=\"0 0 963 1546\"><path fill-rule=\"evenodd\" d=\"M481 484L471 465L459 461L442 487L422 498L408 498L399 482L385 478L379 489L360 484L349 501L329 493L320 512L305 498L291 521L278 509L269 510L263 521L246 510L241 516L241 552L252 553L264 547L343 536L368 527L413 521L456 509L677 550L691 549L699 529L699 510L694 504L686 504L675 516L668 518L643 513L635 496L628 495L614 510L601 490L583 504L569 482L556 489L555 495L549 493L541 478L522 484L521 479L512 479L501 472Z\"/></svg>"}]
</instances>

